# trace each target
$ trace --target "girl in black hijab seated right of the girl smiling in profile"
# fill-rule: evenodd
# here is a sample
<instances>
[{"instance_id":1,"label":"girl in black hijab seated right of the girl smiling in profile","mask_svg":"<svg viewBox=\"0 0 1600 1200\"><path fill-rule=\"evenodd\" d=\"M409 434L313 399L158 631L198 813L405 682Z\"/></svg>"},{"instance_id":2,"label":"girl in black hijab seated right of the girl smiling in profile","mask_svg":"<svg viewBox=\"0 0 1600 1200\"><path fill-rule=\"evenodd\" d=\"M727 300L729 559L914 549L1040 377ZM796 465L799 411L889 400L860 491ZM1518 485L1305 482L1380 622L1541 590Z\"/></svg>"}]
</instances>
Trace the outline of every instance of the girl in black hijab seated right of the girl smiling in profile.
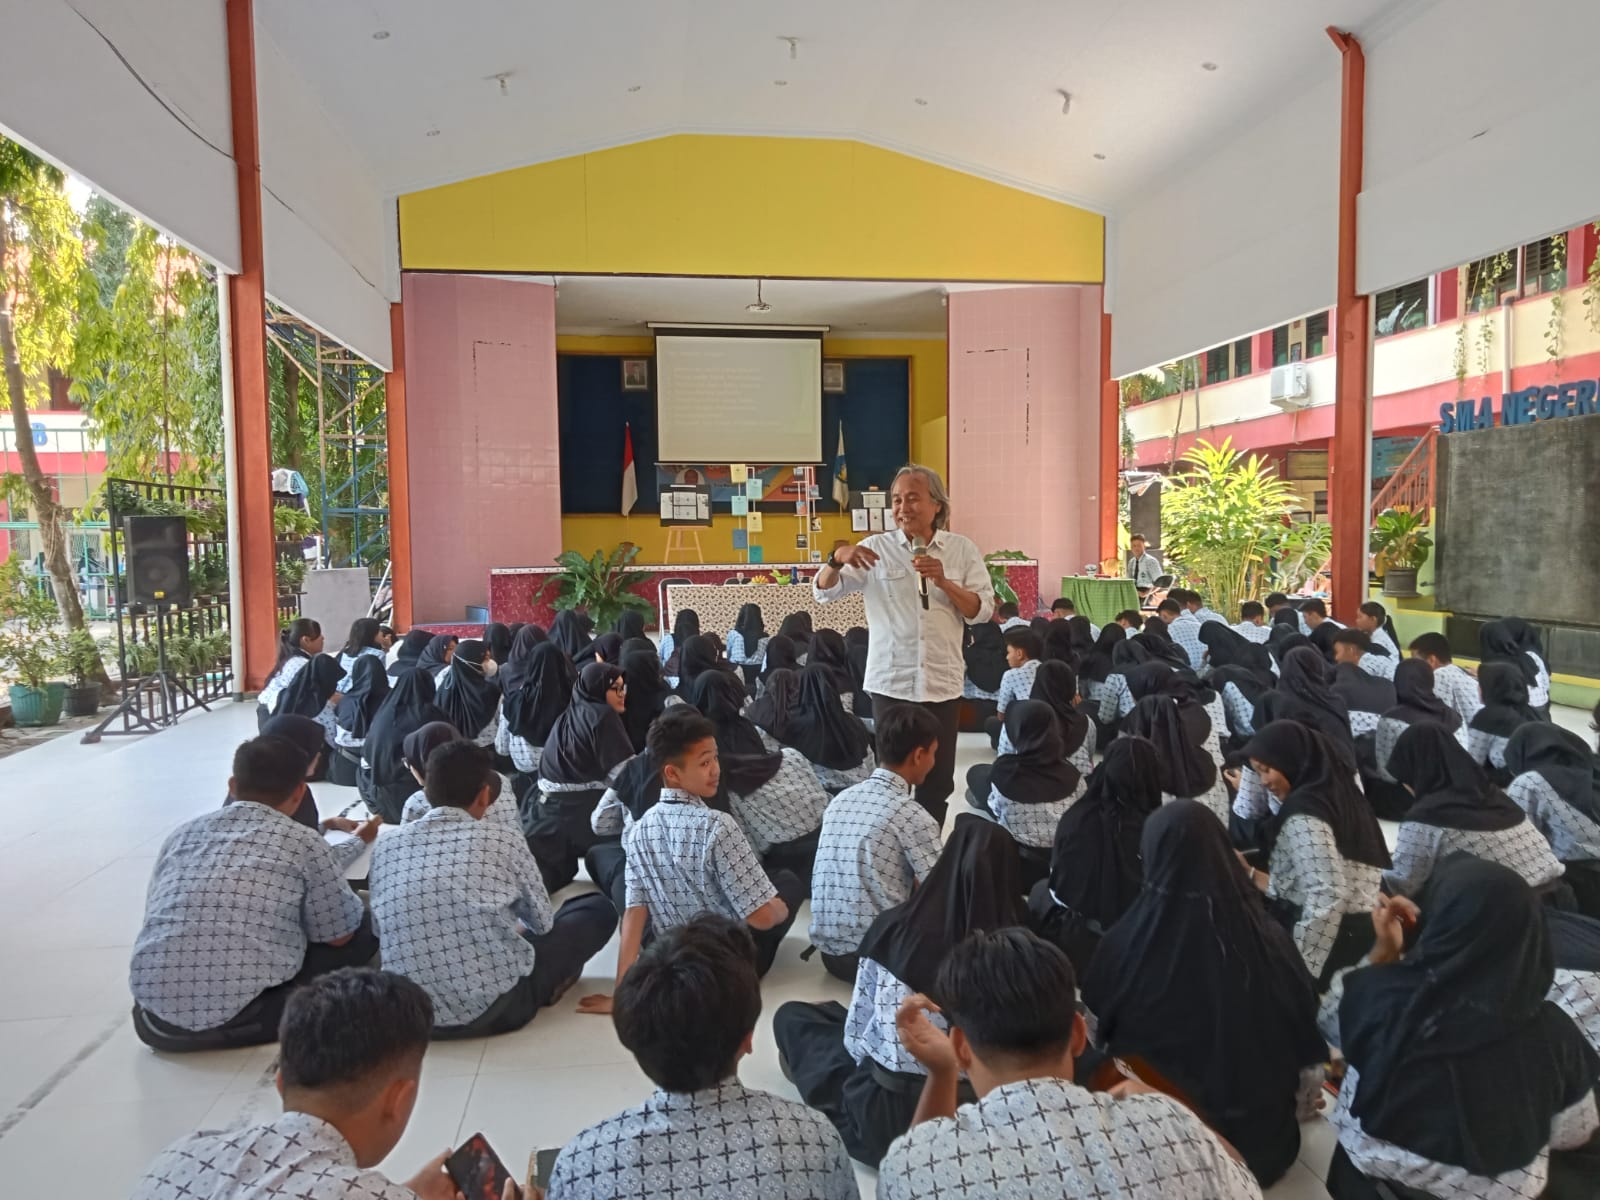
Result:
<instances>
[{"instance_id":1,"label":"girl in black hijab seated right of the girl smiling in profile","mask_svg":"<svg viewBox=\"0 0 1600 1200\"><path fill-rule=\"evenodd\" d=\"M1562 862L1528 814L1438 725L1413 725L1395 742L1389 771L1416 797L1395 838L1384 883L1416 896L1434 866L1461 851L1515 870L1530 888L1554 891Z\"/></svg>"}]
</instances>

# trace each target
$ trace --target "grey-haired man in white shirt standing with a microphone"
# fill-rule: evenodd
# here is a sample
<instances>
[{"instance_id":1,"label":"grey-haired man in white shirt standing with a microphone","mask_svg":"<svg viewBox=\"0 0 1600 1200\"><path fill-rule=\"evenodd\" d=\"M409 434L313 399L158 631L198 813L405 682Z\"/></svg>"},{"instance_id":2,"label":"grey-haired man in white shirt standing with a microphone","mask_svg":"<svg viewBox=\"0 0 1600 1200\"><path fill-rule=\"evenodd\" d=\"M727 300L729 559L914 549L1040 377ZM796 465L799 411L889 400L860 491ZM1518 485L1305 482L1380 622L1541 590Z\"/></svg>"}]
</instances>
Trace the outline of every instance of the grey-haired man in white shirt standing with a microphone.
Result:
<instances>
[{"instance_id":1,"label":"grey-haired man in white shirt standing with a microphone","mask_svg":"<svg viewBox=\"0 0 1600 1200\"><path fill-rule=\"evenodd\" d=\"M890 488L896 533L874 533L835 549L813 581L821 603L862 592L867 606L867 682L872 717L920 704L939 722L939 752L917 800L942 826L955 789L955 731L962 706L965 626L987 621L995 594L971 538L950 533L950 498L928 467L901 467Z\"/></svg>"}]
</instances>

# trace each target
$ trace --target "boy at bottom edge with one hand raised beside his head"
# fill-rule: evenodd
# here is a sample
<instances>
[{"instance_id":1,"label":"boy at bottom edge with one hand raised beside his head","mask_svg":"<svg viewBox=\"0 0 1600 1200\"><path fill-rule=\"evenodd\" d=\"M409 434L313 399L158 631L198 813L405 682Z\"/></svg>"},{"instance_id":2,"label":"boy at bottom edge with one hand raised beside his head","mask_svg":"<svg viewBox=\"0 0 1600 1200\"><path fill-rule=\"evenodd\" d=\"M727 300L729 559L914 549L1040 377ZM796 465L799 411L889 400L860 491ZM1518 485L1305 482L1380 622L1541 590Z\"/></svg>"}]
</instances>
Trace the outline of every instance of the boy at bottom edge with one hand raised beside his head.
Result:
<instances>
[{"instance_id":1,"label":"boy at bottom edge with one hand raised beside his head","mask_svg":"<svg viewBox=\"0 0 1600 1200\"><path fill-rule=\"evenodd\" d=\"M1109 1093L1072 1082L1088 1040L1075 990L1061 950L1002 930L950 952L939 1005L926 995L901 1005L901 1038L928 1082L915 1125L878 1166L880 1200L1259 1200L1238 1154L1176 1099L1136 1080ZM957 1106L963 1074L976 1104Z\"/></svg>"}]
</instances>

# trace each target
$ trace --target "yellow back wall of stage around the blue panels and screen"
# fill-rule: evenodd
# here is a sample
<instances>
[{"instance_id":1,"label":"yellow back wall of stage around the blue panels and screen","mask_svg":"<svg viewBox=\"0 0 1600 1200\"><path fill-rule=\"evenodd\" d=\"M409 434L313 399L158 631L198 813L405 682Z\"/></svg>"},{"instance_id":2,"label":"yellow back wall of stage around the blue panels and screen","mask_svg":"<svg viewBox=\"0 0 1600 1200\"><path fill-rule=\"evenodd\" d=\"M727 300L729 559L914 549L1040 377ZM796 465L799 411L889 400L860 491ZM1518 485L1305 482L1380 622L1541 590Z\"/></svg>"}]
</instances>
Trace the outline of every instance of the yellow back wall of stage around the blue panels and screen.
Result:
<instances>
[{"instance_id":1,"label":"yellow back wall of stage around the blue panels and screen","mask_svg":"<svg viewBox=\"0 0 1600 1200\"><path fill-rule=\"evenodd\" d=\"M558 354L653 354L653 338L579 338L562 334L555 339ZM944 339L882 339L882 338L826 338L822 354L829 358L910 358L910 446L912 456L941 475L947 470L946 390L947 358ZM835 538L854 539L850 530L850 514L824 512L821 546L826 554ZM709 530L701 530L701 549L706 562L739 562L733 549L733 531L741 522L726 514L712 518ZM752 534L750 542L760 546L768 563L794 563L803 557L795 549L800 522L794 515L765 514L765 528ZM632 517L610 514L576 514L562 517L562 549L594 552L611 549L630 541L638 546L638 560L659 563L666 558L667 531L654 515Z\"/></svg>"}]
</instances>

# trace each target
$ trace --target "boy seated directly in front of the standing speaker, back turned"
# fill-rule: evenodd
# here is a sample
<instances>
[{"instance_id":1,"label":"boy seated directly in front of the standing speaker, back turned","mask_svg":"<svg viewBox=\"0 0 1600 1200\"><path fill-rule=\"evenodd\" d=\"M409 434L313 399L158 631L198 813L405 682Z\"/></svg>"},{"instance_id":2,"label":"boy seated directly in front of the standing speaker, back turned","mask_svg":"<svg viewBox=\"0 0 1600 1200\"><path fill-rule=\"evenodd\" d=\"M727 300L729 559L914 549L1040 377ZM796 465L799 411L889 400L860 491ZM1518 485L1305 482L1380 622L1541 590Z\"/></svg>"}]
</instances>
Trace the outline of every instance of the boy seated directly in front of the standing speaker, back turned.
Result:
<instances>
[{"instance_id":1,"label":"boy seated directly in front of the standing speaker, back turned","mask_svg":"<svg viewBox=\"0 0 1600 1200\"><path fill-rule=\"evenodd\" d=\"M811 944L835 979L856 981L856 950L878 914L910 899L939 861L939 826L912 798L933 770L939 722L901 704L877 730L878 766L822 813L811 869Z\"/></svg>"}]
</instances>

